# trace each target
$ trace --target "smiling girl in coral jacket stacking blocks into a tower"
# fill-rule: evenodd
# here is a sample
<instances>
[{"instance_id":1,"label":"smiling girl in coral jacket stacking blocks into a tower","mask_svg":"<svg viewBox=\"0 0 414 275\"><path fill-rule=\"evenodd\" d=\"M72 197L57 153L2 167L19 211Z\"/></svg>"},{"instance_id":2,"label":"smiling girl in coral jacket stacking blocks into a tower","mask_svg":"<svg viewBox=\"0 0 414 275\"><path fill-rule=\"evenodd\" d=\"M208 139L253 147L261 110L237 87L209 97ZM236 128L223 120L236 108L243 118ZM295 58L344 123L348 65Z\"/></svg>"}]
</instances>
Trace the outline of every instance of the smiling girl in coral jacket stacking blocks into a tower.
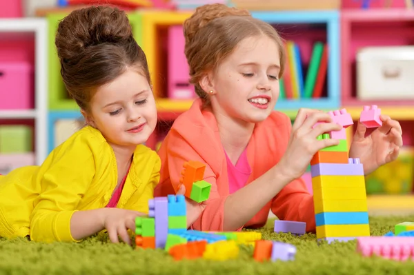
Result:
<instances>
[{"instance_id":1,"label":"smiling girl in coral jacket stacking blocks into a tower","mask_svg":"<svg viewBox=\"0 0 414 275\"><path fill-rule=\"evenodd\" d=\"M315 231L313 196L300 177L317 151L339 143L317 136L342 126L315 110L299 110L293 125L273 111L286 57L282 39L268 23L213 4L197 8L184 23L184 35L199 99L177 118L159 149L155 196L173 194L183 164L200 161L212 188L206 203L188 201L194 229L261 227L272 210ZM359 124L353 137L349 157L361 159L365 174L396 159L402 146L400 124L381 119L382 127L371 135L365 137ZM326 123L313 128L321 121Z\"/></svg>"}]
</instances>

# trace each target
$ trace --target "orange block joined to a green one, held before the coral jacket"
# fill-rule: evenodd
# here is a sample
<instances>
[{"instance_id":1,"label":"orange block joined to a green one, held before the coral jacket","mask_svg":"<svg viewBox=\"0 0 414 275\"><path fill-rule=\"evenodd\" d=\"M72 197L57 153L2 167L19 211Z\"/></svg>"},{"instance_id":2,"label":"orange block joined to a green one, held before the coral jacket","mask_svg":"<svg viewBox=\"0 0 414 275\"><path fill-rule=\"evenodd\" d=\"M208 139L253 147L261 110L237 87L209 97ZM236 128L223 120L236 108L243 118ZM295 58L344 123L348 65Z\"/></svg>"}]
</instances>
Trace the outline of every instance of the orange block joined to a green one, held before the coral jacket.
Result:
<instances>
[{"instance_id":1,"label":"orange block joined to a green one, held before the coral jacket","mask_svg":"<svg viewBox=\"0 0 414 275\"><path fill-rule=\"evenodd\" d=\"M184 163L183 170L181 170L181 178L179 183L186 186L186 197L190 198L191 190L193 189L193 183L196 181L201 181L204 178L204 171L206 170L206 165L199 161L188 161ZM175 192L179 189L179 185Z\"/></svg>"}]
</instances>

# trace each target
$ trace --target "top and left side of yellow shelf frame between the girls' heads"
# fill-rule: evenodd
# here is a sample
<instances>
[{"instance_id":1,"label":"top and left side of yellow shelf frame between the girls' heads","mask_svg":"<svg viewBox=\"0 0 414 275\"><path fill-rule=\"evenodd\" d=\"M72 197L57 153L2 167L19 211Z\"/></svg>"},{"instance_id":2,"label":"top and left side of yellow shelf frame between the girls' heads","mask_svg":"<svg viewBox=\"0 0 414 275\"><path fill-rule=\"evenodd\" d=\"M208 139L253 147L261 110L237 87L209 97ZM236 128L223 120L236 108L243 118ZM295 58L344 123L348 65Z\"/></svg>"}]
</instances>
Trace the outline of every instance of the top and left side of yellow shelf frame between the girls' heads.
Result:
<instances>
[{"instance_id":1,"label":"top and left side of yellow shelf frame between the girls' heads","mask_svg":"<svg viewBox=\"0 0 414 275\"><path fill-rule=\"evenodd\" d=\"M144 50L148 62L148 68L150 70L153 92L156 97L161 96L161 87L159 87L160 81L165 81L165 77L161 75L161 58L162 54L159 54L162 43L165 41L159 41L160 35L157 35L157 31L164 28L164 32L168 26L182 25L188 17L193 14L192 12L179 12L179 11L154 11L146 10L140 12L142 14L142 50Z\"/></svg>"}]
</instances>

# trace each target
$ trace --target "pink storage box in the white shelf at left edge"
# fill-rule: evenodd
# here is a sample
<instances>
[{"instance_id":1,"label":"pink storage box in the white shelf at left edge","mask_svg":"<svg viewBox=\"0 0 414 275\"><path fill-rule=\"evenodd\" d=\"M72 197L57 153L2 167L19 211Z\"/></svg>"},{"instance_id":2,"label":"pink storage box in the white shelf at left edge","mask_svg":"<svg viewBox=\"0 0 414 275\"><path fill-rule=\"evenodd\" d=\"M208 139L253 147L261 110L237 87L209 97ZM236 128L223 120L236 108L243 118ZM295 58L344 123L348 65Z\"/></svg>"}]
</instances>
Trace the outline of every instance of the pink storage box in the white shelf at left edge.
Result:
<instances>
[{"instance_id":1,"label":"pink storage box in the white shelf at left edge","mask_svg":"<svg viewBox=\"0 0 414 275\"><path fill-rule=\"evenodd\" d=\"M0 62L0 110L34 108L32 71L28 62Z\"/></svg>"}]
</instances>

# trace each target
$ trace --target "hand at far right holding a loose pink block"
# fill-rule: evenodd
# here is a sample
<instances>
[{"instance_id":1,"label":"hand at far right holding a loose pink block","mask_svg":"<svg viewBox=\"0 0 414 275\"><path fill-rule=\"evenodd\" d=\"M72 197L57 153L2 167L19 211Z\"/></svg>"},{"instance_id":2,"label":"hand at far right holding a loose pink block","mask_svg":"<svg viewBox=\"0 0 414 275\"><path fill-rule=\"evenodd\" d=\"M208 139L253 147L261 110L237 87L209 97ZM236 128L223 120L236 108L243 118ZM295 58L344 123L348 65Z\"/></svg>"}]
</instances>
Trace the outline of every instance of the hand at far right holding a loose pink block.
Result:
<instances>
[{"instance_id":1,"label":"hand at far right holding a loose pink block","mask_svg":"<svg viewBox=\"0 0 414 275\"><path fill-rule=\"evenodd\" d=\"M364 165L364 174L370 174L378 167L395 161L402 147L402 129L398 121L381 115L382 126L367 135L364 124L359 123L349 149L350 158L359 158Z\"/></svg>"}]
</instances>

